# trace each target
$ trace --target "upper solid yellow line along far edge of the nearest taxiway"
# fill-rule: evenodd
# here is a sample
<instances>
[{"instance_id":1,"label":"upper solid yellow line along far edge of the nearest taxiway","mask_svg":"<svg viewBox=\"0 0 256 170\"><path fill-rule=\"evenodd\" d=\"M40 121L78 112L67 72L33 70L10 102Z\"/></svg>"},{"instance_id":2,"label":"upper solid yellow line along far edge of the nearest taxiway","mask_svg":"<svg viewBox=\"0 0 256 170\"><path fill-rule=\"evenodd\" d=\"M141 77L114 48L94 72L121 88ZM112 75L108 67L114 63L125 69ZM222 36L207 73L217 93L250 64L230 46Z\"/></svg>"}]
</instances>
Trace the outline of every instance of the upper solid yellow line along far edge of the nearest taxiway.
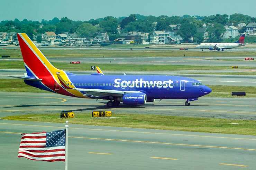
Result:
<instances>
[{"instance_id":1,"label":"upper solid yellow line along far edge of the nearest taxiway","mask_svg":"<svg viewBox=\"0 0 256 170\"><path fill-rule=\"evenodd\" d=\"M63 127L57 127L57 126L43 126L43 125L33 125L33 124L15 124L15 123L0 123L0 124L10 124L10 125L19 125L19 126L33 126L33 127L48 127L48 128L63 128ZM192 134L139 132L139 131L124 131L124 130L108 130L108 129L72 128L72 127L69 127L69 129L84 129L84 130L98 130L98 131L110 131L110 132L128 132L128 133L144 133L144 134L167 134L167 135L175 135L175 136L191 136L191 137L205 137L205 138L256 140L256 139L252 139L252 138L231 138L231 137L202 136L202 135L192 135ZM10 133L12 133L12 132L10 132Z\"/></svg>"}]
</instances>

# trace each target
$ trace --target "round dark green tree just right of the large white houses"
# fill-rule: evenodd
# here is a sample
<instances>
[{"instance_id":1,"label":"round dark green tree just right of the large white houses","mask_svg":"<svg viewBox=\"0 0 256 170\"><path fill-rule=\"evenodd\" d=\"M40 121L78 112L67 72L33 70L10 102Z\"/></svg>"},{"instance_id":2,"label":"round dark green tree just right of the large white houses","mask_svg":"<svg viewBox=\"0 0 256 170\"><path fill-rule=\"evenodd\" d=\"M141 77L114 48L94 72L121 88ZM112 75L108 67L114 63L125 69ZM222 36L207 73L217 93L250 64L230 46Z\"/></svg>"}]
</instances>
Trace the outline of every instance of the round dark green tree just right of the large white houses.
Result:
<instances>
[{"instance_id":1,"label":"round dark green tree just right of the large white houses","mask_svg":"<svg viewBox=\"0 0 256 170\"><path fill-rule=\"evenodd\" d=\"M189 41L191 37L194 37L197 29L194 24L185 22L181 24L181 28L178 33L183 37L184 41Z\"/></svg>"}]
</instances>

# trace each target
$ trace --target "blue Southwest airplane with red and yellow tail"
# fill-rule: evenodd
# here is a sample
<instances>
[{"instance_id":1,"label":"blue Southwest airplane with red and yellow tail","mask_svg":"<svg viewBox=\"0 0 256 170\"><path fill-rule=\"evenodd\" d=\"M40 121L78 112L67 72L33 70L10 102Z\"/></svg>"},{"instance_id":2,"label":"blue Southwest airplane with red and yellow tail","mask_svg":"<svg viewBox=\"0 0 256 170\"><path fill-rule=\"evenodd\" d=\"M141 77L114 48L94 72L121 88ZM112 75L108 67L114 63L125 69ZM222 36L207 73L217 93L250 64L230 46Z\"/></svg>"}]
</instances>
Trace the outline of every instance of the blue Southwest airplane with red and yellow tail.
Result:
<instances>
[{"instance_id":1,"label":"blue Southwest airplane with red and yellow tail","mask_svg":"<svg viewBox=\"0 0 256 170\"><path fill-rule=\"evenodd\" d=\"M76 75L55 68L29 39L18 33L18 41L26 72L24 79L29 86L66 96L109 100L108 107L123 104L146 104L155 99L185 99L189 101L209 94L211 89L201 82L178 76L104 75L98 73Z\"/></svg>"}]
</instances>

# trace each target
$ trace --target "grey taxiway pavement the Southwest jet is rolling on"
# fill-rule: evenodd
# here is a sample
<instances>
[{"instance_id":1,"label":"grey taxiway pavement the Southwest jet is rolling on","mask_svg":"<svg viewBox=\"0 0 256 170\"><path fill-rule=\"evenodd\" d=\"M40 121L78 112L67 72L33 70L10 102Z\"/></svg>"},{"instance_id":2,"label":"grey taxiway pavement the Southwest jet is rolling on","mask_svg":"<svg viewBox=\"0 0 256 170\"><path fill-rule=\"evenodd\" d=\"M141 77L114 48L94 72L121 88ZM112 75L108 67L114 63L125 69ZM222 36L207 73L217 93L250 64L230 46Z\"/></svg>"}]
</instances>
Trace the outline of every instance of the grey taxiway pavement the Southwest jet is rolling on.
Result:
<instances>
[{"instance_id":1,"label":"grey taxiway pavement the Southwest jet is rolling on","mask_svg":"<svg viewBox=\"0 0 256 170\"><path fill-rule=\"evenodd\" d=\"M214 98L202 97L184 106L185 100L159 100L146 105L107 108L107 100L82 99L54 93L0 92L0 117L29 113L60 113L71 110L76 113L93 110L111 110L113 114L165 114L228 119L256 120L256 98Z\"/></svg>"}]
</instances>

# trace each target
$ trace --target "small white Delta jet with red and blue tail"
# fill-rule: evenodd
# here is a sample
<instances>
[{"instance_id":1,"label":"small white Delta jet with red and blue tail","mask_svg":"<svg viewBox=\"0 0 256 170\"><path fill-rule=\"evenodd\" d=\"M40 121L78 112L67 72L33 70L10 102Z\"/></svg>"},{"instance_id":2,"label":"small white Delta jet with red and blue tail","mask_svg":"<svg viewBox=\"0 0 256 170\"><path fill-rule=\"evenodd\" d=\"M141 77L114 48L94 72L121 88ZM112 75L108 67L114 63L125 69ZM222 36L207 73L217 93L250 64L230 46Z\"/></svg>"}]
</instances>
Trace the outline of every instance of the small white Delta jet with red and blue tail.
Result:
<instances>
[{"instance_id":1,"label":"small white Delta jet with red and blue tail","mask_svg":"<svg viewBox=\"0 0 256 170\"><path fill-rule=\"evenodd\" d=\"M201 48L202 51L203 49L209 49L209 50L217 50L217 51L224 51L224 49L231 49L231 48L236 48L236 47L241 47L241 46L245 46L246 44L244 44L244 40L245 40L245 34L241 35L241 37L239 38L238 41L236 41L235 43L216 43L216 42L205 42L205 43L201 43L198 46L196 46L196 48Z\"/></svg>"}]
</instances>

